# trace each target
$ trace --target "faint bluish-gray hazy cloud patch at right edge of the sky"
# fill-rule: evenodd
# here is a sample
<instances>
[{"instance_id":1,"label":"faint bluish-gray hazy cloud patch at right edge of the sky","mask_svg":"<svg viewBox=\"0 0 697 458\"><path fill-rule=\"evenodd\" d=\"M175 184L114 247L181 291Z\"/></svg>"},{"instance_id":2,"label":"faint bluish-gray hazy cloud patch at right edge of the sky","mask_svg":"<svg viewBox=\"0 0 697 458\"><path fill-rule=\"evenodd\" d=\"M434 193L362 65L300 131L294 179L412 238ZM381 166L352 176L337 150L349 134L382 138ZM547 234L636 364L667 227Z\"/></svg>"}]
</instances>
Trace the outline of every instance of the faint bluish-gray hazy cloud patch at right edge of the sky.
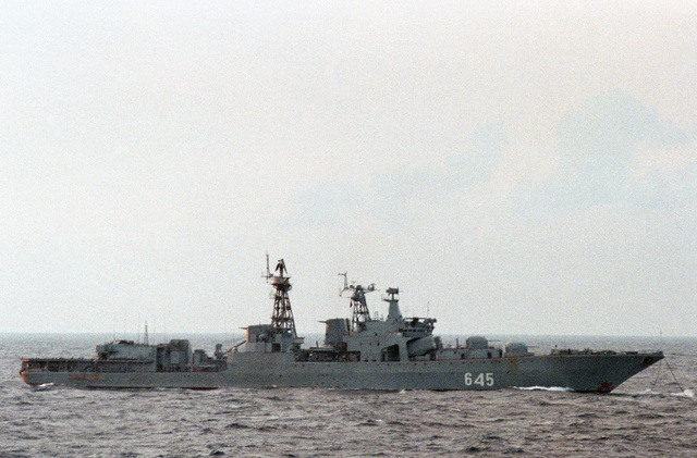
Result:
<instances>
[{"instance_id":1,"label":"faint bluish-gray hazy cloud patch at right edge of the sky","mask_svg":"<svg viewBox=\"0 0 697 458\"><path fill-rule=\"evenodd\" d=\"M632 199L638 191L633 175L646 151L689 147L695 126L681 127L631 95L598 95L559 125L559 169L550 198L558 205L602 205ZM646 163L644 164L646 166Z\"/></svg>"}]
</instances>

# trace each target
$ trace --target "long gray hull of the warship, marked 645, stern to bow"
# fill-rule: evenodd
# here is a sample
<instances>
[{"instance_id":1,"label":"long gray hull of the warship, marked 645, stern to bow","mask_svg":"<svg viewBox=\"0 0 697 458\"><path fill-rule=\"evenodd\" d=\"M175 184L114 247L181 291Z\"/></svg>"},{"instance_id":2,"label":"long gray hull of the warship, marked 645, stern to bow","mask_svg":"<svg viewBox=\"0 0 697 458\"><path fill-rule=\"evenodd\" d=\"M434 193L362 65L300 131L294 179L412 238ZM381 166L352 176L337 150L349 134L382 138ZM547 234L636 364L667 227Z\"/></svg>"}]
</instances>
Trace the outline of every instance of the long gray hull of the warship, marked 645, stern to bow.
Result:
<instances>
[{"instance_id":1,"label":"long gray hull of the warship, marked 645, stern to bow","mask_svg":"<svg viewBox=\"0 0 697 458\"><path fill-rule=\"evenodd\" d=\"M663 358L661 352L546 355L396 362L296 362L267 354L217 372L23 370L29 385L81 388L326 387L343 389L502 389L560 387L607 393Z\"/></svg>"}]
</instances>

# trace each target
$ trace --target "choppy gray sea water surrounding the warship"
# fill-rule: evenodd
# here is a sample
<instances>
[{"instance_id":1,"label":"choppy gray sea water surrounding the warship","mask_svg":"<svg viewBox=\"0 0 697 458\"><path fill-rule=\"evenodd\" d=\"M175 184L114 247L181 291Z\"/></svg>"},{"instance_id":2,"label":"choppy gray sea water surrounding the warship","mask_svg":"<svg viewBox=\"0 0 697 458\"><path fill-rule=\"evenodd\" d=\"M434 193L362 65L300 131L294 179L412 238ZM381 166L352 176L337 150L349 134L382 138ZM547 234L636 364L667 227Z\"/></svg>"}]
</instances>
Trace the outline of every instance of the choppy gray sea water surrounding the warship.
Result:
<instances>
[{"instance_id":1,"label":"choppy gray sea water surrounding the warship","mask_svg":"<svg viewBox=\"0 0 697 458\"><path fill-rule=\"evenodd\" d=\"M209 354L224 338L189 336ZM536 352L554 346L665 352L664 361L606 395L87 391L33 388L20 379L22 357L93 357L94 346L109 339L0 335L0 457L697 456L695 338L499 337L527 342ZM464 343L445 341L455 339Z\"/></svg>"}]
</instances>

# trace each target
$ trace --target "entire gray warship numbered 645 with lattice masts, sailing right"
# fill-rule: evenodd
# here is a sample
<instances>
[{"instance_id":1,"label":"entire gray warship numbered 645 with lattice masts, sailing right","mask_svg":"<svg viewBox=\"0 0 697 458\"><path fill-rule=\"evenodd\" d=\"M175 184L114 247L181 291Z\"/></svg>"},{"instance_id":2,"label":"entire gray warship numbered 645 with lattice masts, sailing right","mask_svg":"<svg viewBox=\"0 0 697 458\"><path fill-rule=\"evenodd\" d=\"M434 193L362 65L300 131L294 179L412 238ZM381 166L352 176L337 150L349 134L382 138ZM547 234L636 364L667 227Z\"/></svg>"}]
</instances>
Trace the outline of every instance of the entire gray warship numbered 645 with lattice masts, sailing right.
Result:
<instances>
[{"instance_id":1,"label":"entire gray warship numbered 645 with lattice masts, sailing right","mask_svg":"<svg viewBox=\"0 0 697 458\"><path fill-rule=\"evenodd\" d=\"M81 388L327 387L345 389L502 389L560 387L608 393L663 358L662 351L552 349L536 355L526 344L494 346L482 336L443 345L436 320L402 315L399 289L382 298L388 314L371 314L366 295L375 284L348 285L351 318L323 321L323 345L306 346L291 308L290 276L279 260L266 277L273 287L270 324L246 326L246 338L212 356L188 341L149 345L114 341L97 345L96 358L24 358L29 385Z\"/></svg>"}]
</instances>

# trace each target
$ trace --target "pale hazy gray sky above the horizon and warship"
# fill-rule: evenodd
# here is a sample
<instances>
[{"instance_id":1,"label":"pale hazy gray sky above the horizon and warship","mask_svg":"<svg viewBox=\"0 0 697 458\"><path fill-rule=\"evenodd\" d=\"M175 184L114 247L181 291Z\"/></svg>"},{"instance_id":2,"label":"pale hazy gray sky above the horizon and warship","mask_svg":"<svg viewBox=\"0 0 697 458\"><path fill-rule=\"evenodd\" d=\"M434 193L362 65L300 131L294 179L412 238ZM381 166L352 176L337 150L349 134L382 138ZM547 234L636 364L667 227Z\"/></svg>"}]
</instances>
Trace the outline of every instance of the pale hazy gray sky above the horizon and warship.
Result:
<instances>
[{"instance_id":1,"label":"pale hazy gray sky above the horizon and warship","mask_svg":"<svg viewBox=\"0 0 697 458\"><path fill-rule=\"evenodd\" d=\"M694 2L2 11L0 332L696 335Z\"/></svg>"}]
</instances>

